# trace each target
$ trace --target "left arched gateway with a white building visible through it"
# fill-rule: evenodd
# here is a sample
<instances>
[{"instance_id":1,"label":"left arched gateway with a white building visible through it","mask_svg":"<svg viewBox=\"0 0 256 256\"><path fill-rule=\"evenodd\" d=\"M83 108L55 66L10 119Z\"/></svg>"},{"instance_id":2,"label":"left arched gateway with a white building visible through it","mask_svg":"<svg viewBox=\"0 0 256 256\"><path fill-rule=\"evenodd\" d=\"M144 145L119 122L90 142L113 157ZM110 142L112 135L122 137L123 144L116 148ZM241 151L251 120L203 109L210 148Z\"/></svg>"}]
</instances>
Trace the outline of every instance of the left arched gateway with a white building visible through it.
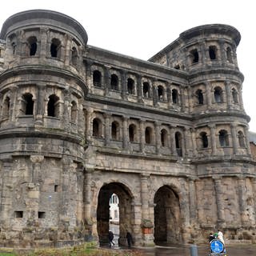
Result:
<instances>
[{"instance_id":1,"label":"left arched gateway with a white building visible through it","mask_svg":"<svg viewBox=\"0 0 256 256\"><path fill-rule=\"evenodd\" d=\"M108 232L110 230L110 198L113 194L118 197L119 210L119 245L126 245L126 232L132 231L131 222L134 219L134 209L132 207L132 195L130 190L122 183L111 182L102 186L98 194L97 206L97 231L101 246L108 244ZM115 231L115 230L112 230Z\"/></svg>"}]
</instances>

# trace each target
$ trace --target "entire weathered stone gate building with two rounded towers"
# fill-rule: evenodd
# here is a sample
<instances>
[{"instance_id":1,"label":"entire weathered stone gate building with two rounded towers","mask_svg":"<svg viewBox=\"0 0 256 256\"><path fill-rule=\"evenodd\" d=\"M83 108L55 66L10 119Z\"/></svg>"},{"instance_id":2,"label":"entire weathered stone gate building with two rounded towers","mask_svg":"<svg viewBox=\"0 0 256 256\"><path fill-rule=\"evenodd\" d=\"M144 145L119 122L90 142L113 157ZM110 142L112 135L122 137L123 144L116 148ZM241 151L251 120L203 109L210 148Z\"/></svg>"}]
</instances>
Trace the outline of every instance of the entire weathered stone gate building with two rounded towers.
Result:
<instances>
[{"instance_id":1,"label":"entire weathered stone gate building with two rounded towers","mask_svg":"<svg viewBox=\"0 0 256 256\"><path fill-rule=\"evenodd\" d=\"M74 18L0 34L0 244L255 241L256 174L232 26L186 30L149 61L87 45Z\"/></svg>"}]
</instances>

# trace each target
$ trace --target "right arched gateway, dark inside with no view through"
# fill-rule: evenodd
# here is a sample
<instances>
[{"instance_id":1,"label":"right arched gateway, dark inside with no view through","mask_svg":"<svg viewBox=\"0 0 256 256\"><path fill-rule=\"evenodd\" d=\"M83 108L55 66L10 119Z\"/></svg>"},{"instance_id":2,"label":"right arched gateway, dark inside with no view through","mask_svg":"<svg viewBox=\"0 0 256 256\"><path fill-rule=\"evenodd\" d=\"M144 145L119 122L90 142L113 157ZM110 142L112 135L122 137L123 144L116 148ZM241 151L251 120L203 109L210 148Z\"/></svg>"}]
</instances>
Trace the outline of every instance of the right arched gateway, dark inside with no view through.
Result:
<instances>
[{"instance_id":1,"label":"right arched gateway, dark inside with no view through","mask_svg":"<svg viewBox=\"0 0 256 256\"><path fill-rule=\"evenodd\" d=\"M178 194L162 186L154 195L154 242L156 245L181 244L181 211Z\"/></svg>"}]
</instances>

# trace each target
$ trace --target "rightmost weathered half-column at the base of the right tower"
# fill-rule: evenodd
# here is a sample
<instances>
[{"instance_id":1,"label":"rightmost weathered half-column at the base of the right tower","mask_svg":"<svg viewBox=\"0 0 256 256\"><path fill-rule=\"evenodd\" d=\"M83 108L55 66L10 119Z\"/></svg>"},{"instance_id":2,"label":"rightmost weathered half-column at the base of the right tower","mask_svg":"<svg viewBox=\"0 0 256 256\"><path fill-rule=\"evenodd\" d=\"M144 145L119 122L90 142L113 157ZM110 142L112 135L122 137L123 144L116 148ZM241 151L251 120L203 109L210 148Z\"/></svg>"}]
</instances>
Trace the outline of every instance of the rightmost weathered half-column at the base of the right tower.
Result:
<instances>
[{"instance_id":1,"label":"rightmost weathered half-column at the base of the right tower","mask_svg":"<svg viewBox=\"0 0 256 256\"><path fill-rule=\"evenodd\" d=\"M245 178L241 175L238 176L238 203L241 216L241 224L245 225L247 223L246 216L246 186Z\"/></svg>"}]
</instances>

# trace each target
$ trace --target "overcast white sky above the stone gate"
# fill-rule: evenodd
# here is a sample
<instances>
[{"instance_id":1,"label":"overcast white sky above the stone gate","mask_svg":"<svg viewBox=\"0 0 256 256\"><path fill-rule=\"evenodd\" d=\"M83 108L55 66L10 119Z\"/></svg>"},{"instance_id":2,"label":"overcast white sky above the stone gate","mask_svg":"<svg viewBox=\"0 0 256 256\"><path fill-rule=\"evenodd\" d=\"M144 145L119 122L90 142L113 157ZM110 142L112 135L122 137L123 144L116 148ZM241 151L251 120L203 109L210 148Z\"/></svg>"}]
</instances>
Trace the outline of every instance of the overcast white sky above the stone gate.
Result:
<instances>
[{"instance_id":1,"label":"overcast white sky above the stone gate","mask_svg":"<svg viewBox=\"0 0 256 256\"><path fill-rule=\"evenodd\" d=\"M194 26L222 23L241 34L237 57L245 76L242 98L256 132L256 8L241 0L12 0L0 9L0 27L24 10L55 10L76 19L88 34L88 44L147 60Z\"/></svg>"}]
</instances>

